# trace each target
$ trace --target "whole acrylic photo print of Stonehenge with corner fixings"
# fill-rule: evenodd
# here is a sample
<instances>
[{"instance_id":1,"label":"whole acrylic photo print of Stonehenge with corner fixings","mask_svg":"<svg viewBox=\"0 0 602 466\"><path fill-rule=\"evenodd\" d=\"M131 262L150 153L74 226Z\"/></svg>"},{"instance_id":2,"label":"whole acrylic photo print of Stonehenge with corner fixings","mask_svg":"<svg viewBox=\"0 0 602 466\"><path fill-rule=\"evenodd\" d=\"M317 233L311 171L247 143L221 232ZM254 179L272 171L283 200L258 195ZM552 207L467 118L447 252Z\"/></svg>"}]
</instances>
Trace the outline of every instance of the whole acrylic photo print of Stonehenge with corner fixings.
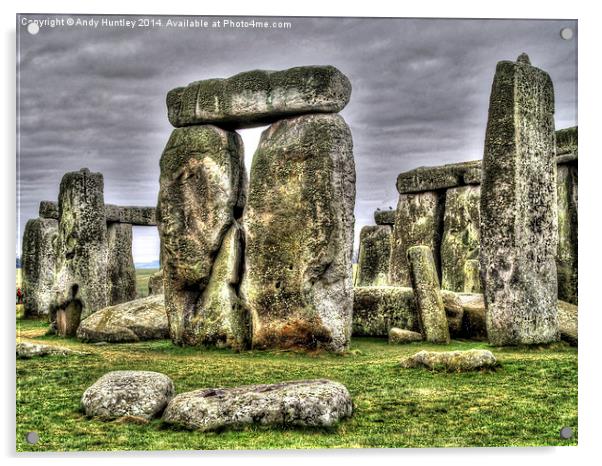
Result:
<instances>
[{"instance_id":1,"label":"whole acrylic photo print of Stonehenge with corner fixings","mask_svg":"<svg viewBox=\"0 0 602 466\"><path fill-rule=\"evenodd\" d=\"M575 20L16 30L18 451L576 445Z\"/></svg>"}]
</instances>

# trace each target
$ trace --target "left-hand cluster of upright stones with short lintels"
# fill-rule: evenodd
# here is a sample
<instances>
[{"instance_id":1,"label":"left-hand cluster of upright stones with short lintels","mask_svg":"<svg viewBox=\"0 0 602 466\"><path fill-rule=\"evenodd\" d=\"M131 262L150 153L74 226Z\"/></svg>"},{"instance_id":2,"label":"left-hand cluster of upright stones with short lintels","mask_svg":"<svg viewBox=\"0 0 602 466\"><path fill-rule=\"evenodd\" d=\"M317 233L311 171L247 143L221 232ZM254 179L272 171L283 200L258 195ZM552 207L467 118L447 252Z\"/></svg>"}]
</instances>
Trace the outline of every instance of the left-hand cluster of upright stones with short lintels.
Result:
<instances>
[{"instance_id":1,"label":"left-hand cluster of upright stones with short lintels","mask_svg":"<svg viewBox=\"0 0 602 466\"><path fill-rule=\"evenodd\" d=\"M135 299L132 225L156 225L155 208L105 204L102 174L66 173L58 202L42 201L23 235L26 315L75 336L81 320Z\"/></svg>"}]
</instances>

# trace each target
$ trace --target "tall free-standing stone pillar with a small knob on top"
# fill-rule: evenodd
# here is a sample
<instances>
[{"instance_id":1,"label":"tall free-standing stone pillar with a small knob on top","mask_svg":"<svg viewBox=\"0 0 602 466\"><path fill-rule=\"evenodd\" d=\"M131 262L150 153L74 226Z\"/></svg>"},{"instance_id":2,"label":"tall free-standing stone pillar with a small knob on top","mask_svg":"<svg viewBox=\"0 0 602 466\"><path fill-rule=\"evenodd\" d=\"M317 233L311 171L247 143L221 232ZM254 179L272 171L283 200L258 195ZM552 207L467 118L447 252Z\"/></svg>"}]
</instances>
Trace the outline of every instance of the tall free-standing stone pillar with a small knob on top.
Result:
<instances>
[{"instance_id":1,"label":"tall free-standing stone pillar with a small knob on top","mask_svg":"<svg viewBox=\"0 0 602 466\"><path fill-rule=\"evenodd\" d=\"M554 90L529 63L497 65L481 185L481 274L493 345L559 339Z\"/></svg>"}]
</instances>

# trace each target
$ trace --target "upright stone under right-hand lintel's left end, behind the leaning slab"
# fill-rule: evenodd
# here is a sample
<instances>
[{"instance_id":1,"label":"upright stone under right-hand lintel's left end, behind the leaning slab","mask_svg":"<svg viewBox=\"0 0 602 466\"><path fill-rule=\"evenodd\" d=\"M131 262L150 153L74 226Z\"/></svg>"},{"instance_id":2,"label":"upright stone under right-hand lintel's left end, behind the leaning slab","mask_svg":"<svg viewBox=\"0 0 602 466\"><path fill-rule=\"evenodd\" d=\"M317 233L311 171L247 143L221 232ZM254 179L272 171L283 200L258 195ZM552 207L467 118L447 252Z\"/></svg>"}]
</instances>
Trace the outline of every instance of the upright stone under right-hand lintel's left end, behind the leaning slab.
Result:
<instances>
[{"instance_id":1,"label":"upright stone under right-hand lintel's left end, behind the leaning slab","mask_svg":"<svg viewBox=\"0 0 602 466\"><path fill-rule=\"evenodd\" d=\"M439 248L443 230L444 197L434 191L400 194L395 226L391 237L389 281L391 285L410 286L407 251L424 245L434 251L435 265L440 270Z\"/></svg>"}]
</instances>

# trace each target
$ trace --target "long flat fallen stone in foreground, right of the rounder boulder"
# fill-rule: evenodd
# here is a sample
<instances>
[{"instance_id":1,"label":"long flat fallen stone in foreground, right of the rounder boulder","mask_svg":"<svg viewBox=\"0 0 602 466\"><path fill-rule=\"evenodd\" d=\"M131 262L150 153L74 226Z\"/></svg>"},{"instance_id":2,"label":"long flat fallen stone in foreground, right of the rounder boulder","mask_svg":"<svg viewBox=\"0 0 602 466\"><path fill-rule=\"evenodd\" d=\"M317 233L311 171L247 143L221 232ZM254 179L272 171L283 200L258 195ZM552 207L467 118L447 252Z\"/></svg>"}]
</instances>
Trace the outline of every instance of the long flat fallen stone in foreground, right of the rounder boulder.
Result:
<instances>
[{"instance_id":1,"label":"long flat fallen stone in foreground, right of the rounder boulder","mask_svg":"<svg viewBox=\"0 0 602 466\"><path fill-rule=\"evenodd\" d=\"M171 400L163 420L200 431L250 424L328 427L352 412L351 395L344 385L300 380L182 393Z\"/></svg>"}]
</instances>

